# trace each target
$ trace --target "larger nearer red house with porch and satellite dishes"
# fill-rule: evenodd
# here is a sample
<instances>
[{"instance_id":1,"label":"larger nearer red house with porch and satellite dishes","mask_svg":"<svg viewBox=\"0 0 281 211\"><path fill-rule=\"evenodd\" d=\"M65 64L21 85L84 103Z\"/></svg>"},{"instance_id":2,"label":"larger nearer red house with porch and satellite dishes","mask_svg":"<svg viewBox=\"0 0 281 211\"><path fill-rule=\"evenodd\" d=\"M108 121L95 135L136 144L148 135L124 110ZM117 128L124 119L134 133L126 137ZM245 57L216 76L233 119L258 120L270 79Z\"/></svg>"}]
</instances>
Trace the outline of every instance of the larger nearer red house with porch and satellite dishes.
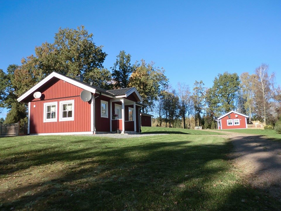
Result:
<instances>
[{"instance_id":1,"label":"larger nearer red house with porch and satellite dishes","mask_svg":"<svg viewBox=\"0 0 281 211\"><path fill-rule=\"evenodd\" d=\"M73 79L56 72L17 100L28 104L28 134L33 135L136 133L144 108L134 87L105 90L83 82L82 75Z\"/></svg>"}]
</instances>

